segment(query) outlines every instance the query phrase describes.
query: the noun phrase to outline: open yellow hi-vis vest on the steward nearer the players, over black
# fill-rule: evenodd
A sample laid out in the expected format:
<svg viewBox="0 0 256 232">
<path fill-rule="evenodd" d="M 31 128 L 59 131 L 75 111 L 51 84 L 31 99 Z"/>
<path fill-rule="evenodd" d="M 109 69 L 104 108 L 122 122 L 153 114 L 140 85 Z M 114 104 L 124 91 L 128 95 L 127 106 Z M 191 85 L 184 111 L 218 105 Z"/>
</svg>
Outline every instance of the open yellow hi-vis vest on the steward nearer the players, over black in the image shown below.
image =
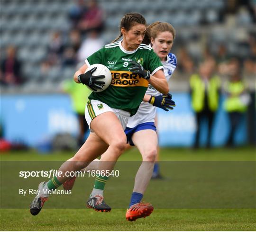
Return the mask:
<svg viewBox="0 0 256 232">
<path fill-rule="evenodd" d="M 190 88 L 192 90 L 192 108 L 195 112 L 201 112 L 204 107 L 205 83 L 198 74 L 193 74 L 190 78 Z M 208 106 L 211 111 L 216 111 L 219 107 L 219 76 L 214 75 L 209 79 Z"/>
</svg>

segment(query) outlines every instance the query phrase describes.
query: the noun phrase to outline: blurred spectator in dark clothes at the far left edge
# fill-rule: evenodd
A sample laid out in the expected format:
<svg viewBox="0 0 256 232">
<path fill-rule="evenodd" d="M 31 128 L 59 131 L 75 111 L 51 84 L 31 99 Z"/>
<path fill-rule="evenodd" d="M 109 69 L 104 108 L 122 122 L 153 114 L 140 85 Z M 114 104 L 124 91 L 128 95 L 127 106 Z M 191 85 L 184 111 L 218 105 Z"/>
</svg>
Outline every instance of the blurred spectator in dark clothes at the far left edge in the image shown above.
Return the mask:
<svg viewBox="0 0 256 232">
<path fill-rule="evenodd" d="M 8 46 L 6 57 L 1 62 L 0 84 L 19 85 L 23 82 L 21 66 L 22 63 L 17 58 L 16 48 Z"/>
</svg>

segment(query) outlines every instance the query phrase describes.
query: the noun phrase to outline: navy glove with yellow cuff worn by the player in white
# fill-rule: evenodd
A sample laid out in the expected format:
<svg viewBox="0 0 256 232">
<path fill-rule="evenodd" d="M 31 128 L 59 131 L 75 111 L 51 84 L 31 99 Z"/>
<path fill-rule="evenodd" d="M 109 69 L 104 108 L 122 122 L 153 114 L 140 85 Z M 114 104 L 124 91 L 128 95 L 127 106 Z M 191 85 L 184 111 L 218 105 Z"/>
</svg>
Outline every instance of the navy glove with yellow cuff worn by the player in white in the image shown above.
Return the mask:
<svg viewBox="0 0 256 232">
<path fill-rule="evenodd" d="M 154 107 L 161 108 L 165 111 L 174 109 L 176 106 L 175 102 L 172 100 L 172 95 L 169 93 L 167 95 L 151 96 L 148 102 Z"/>
</svg>

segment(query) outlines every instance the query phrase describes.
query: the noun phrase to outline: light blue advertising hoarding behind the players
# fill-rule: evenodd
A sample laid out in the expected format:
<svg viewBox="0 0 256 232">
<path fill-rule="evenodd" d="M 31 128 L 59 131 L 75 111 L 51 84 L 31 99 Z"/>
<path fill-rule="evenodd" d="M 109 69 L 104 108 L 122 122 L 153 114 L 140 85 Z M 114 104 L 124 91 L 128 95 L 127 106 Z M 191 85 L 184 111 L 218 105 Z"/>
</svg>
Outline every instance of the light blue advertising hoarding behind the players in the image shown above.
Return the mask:
<svg viewBox="0 0 256 232">
<path fill-rule="evenodd" d="M 195 117 L 188 93 L 173 94 L 176 107 L 165 112 L 158 109 L 158 135 L 160 146 L 191 146 L 196 129 Z M 225 144 L 229 120 L 222 110 L 223 97 L 216 115 L 212 145 Z M 10 142 L 23 142 L 31 147 L 51 141 L 56 134 L 78 134 L 78 121 L 67 95 L 2 95 L 1 126 L 3 136 Z M 206 142 L 206 125 L 202 128 L 201 145 Z M 244 119 L 235 136 L 236 144 L 247 142 L 247 125 Z"/>
</svg>

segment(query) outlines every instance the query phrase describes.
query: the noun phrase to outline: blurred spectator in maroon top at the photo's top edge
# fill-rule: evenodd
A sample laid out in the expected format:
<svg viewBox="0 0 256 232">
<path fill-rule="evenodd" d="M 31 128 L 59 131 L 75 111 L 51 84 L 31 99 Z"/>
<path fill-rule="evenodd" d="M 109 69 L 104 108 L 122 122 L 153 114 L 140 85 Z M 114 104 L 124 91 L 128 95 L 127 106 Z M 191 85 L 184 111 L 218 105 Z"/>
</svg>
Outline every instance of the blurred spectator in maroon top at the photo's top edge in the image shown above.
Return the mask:
<svg viewBox="0 0 256 232">
<path fill-rule="evenodd" d="M 85 34 L 91 30 L 96 30 L 98 33 L 104 29 L 104 13 L 98 6 L 97 0 L 85 1 L 87 10 L 82 13 L 78 21 L 77 28 Z"/>
</svg>

